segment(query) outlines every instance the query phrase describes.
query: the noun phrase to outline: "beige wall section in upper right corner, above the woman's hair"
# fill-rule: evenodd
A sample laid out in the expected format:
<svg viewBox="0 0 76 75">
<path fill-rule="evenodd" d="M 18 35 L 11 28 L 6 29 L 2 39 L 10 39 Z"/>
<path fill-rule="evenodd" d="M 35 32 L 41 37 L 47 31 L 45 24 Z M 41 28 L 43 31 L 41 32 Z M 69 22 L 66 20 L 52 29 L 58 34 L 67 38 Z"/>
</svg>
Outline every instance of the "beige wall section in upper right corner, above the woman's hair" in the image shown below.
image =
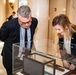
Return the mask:
<svg viewBox="0 0 76 75">
<path fill-rule="evenodd" d="M 76 0 L 67 0 L 66 14 L 73 24 L 76 24 Z"/>
</svg>

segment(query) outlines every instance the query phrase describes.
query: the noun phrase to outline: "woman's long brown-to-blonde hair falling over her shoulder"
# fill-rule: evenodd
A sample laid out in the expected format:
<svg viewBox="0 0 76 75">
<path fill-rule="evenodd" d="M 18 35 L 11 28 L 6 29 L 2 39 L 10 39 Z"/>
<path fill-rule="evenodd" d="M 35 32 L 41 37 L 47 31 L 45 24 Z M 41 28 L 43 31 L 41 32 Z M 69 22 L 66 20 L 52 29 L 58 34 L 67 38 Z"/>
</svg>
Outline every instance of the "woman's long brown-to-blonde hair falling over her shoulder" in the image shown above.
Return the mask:
<svg viewBox="0 0 76 75">
<path fill-rule="evenodd" d="M 73 33 L 76 32 L 76 25 L 72 24 L 69 20 L 69 18 L 64 15 L 60 14 L 56 16 L 52 21 L 52 26 L 61 25 L 63 29 L 65 30 L 65 35 L 67 38 L 71 37 Z M 62 37 L 59 35 L 59 37 Z"/>
</svg>

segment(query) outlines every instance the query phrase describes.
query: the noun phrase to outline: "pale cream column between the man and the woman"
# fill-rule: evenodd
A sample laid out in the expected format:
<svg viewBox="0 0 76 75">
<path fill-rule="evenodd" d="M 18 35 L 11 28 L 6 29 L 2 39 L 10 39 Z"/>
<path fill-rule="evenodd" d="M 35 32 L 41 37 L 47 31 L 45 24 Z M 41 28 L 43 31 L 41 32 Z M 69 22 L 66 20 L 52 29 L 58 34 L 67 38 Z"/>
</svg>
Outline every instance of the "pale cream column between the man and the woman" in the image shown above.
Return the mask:
<svg viewBox="0 0 76 75">
<path fill-rule="evenodd" d="M 34 36 L 37 50 L 47 52 L 49 0 L 29 0 L 32 16 L 38 19 Z"/>
</svg>

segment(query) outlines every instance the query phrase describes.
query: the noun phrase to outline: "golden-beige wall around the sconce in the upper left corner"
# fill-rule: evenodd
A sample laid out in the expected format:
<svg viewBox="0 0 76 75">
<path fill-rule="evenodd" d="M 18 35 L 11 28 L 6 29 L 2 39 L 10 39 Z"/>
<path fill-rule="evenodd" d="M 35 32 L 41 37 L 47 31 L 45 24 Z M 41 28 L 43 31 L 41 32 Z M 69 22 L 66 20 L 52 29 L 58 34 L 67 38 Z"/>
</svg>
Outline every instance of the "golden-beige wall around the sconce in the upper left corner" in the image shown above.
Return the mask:
<svg viewBox="0 0 76 75">
<path fill-rule="evenodd" d="M 3 22 L 7 21 L 7 18 L 11 15 L 12 11 L 17 12 L 18 9 L 18 0 L 15 0 L 14 9 L 12 10 L 9 5 L 9 0 L 0 0 L 0 27 Z M 17 15 L 16 15 L 17 17 Z"/>
</svg>

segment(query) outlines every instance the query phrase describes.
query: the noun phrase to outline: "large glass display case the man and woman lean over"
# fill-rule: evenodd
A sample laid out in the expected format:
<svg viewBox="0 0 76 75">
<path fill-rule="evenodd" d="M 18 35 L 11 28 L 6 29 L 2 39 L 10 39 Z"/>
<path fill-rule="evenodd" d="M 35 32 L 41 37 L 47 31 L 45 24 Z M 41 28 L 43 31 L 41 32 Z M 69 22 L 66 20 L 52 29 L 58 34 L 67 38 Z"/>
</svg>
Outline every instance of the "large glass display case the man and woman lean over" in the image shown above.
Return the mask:
<svg viewBox="0 0 76 75">
<path fill-rule="evenodd" d="M 69 63 L 76 64 L 76 58 L 71 60 L 57 56 L 58 43 L 51 40 L 36 40 L 26 44 L 27 47 L 20 43 L 13 44 L 13 75 L 76 75 L 75 71 L 70 73 L 71 70 L 65 68 L 62 63 L 63 60 L 67 60 Z"/>
</svg>

